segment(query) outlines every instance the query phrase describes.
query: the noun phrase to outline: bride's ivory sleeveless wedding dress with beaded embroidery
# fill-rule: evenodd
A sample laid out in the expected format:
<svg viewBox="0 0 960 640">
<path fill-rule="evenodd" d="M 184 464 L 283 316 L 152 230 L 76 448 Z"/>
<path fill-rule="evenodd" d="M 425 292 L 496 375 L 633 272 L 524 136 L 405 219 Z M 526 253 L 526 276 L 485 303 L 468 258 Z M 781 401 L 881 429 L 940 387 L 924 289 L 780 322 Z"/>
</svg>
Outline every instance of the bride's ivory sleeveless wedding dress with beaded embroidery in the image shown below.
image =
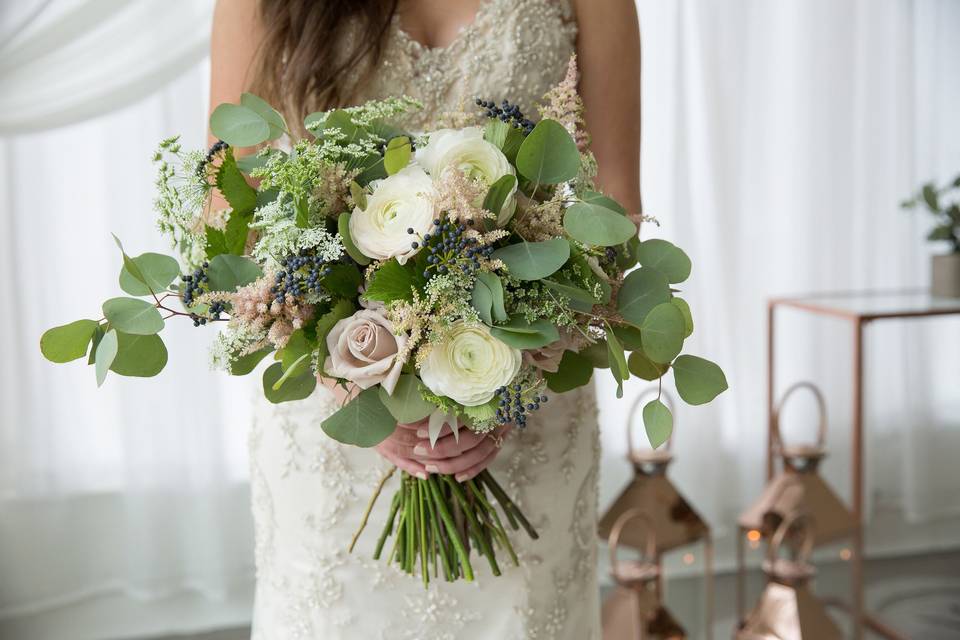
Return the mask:
<svg viewBox="0 0 960 640">
<path fill-rule="evenodd" d="M 395 19 L 384 62 L 361 99 L 424 103 L 414 128 L 463 98 L 508 99 L 535 115 L 561 80 L 576 25 L 561 0 L 482 0 L 449 46 L 427 48 Z M 318 387 L 289 404 L 259 401 L 250 432 L 257 589 L 253 640 L 599 640 L 596 584 L 596 404 L 592 386 L 550 396 L 514 429 L 491 466 L 540 533 L 513 532 L 520 567 L 494 577 L 474 554 L 475 582 L 428 589 L 374 561 L 396 477 L 352 554 L 347 545 L 389 464 L 320 428 L 335 401 Z"/>
</svg>

